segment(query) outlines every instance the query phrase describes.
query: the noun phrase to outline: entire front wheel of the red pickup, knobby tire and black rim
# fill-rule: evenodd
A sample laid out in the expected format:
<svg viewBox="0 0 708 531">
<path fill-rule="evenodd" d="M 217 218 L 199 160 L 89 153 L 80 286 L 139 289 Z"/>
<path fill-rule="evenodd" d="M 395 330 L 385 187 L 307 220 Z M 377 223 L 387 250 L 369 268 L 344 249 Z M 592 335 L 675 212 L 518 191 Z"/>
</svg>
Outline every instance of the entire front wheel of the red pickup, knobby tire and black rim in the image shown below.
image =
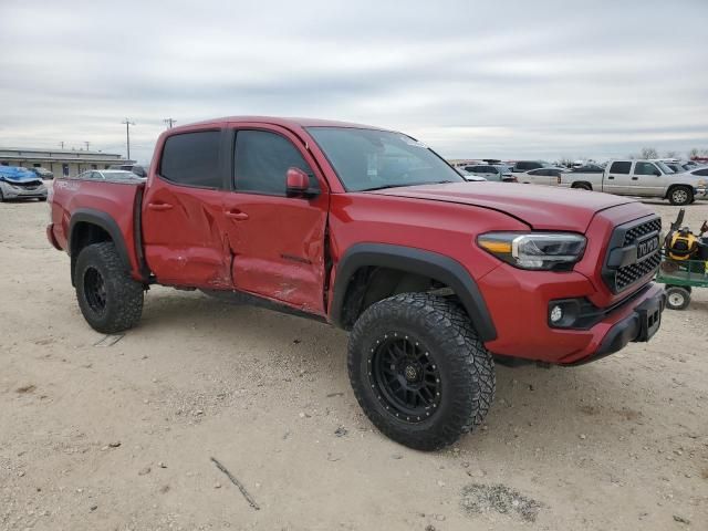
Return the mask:
<svg viewBox="0 0 708 531">
<path fill-rule="evenodd" d="M 469 317 L 427 293 L 394 295 L 360 316 L 348 373 L 371 421 L 417 450 L 437 450 L 469 433 L 494 396 L 494 364 Z"/>
</svg>

